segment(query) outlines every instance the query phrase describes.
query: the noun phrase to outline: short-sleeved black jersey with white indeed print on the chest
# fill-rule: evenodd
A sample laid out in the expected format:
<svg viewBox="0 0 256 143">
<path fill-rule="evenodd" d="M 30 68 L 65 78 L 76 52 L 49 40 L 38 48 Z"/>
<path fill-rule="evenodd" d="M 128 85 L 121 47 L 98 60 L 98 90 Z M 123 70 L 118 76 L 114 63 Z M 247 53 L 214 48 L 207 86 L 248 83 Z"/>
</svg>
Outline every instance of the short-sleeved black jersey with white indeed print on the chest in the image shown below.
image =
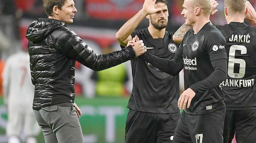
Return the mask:
<svg viewBox="0 0 256 143">
<path fill-rule="evenodd" d="M 185 89 L 191 88 L 196 93 L 190 107 L 186 108 L 186 113 L 205 114 L 225 107 L 219 86 L 197 90 L 201 86 L 200 82 L 214 71 L 212 62 L 227 59 L 225 47 L 225 38 L 215 26 L 210 25 L 210 22 L 197 34 L 191 29 L 184 36 L 176 54 L 183 56 Z"/>
</svg>

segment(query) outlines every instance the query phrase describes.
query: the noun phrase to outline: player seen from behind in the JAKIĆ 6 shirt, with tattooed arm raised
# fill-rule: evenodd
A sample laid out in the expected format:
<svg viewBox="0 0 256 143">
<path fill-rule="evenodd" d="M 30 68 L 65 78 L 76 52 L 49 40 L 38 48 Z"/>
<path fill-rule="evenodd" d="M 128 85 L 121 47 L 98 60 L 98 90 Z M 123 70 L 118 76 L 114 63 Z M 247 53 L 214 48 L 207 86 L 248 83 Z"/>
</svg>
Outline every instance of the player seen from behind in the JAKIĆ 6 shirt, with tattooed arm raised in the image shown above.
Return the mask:
<svg viewBox="0 0 256 143">
<path fill-rule="evenodd" d="M 256 23 L 256 12 L 249 1 L 225 0 L 227 25 L 215 25 L 227 40 L 228 78 L 222 88 L 226 104 L 224 143 L 231 143 L 234 135 L 239 143 L 253 143 L 256 140 L 256 86 L 255 86 L 255 27 L 246 25 L 245 18 Z M 246 8 L 247 6 L 247 8 Z M 176 32 L 174 40 L 180 42 L 186 33 L 183 25 Z"/>
</svg>

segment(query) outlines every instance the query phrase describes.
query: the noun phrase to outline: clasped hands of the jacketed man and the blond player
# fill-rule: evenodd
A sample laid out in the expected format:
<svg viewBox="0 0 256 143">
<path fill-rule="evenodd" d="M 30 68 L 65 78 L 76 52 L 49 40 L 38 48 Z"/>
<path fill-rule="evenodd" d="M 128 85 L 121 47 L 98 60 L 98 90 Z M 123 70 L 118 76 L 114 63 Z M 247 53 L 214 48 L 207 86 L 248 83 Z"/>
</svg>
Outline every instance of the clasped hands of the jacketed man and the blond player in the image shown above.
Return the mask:
<svg viewBox="0 0 256 143">
<path fill-rule="evenodd" d="M 139 57 L 140 55 L 147 52 L 147 49 L 145 49 L 143 41 L 140 40 L 137 35 L 131 41 L 128 41 L 127 46 L 133 47 L 136 57 Z"/>
</svg>

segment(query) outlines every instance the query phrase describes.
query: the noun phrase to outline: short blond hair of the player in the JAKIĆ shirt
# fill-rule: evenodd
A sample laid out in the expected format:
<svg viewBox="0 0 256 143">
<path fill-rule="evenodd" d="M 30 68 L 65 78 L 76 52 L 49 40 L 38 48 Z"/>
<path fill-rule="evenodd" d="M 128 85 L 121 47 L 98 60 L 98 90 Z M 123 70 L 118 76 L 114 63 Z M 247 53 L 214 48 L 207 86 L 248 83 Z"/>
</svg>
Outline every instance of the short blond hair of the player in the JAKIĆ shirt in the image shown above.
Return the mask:
<svg viewBox="0 0 256 143">
<path fill-rule="evenodd" d="M 243 13 L 246 11 L 246 0 L 225 0 L 225 7 L 229 7 L 231 11 Z"/>
</svg>

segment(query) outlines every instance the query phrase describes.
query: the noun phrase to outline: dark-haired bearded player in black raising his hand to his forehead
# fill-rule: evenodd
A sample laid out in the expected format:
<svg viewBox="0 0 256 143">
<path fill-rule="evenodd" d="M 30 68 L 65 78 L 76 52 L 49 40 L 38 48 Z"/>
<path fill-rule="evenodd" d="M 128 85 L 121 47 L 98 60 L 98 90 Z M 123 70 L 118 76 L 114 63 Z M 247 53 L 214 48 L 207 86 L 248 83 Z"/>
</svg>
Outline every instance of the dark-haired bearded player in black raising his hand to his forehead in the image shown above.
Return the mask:
<svg viewBox="0 0 256 143">
<path fill-rule="evenodd" d="M 166 0 L 145 0 L 143 8 L 116 33 L 121 46 L 132 37 L 142 39 L 147 52 L 172 59 L 178 44 L 167 32 L 168 8 Z M 149 26 L 135 30 L 144 18 Z M 136 36 L 137 35 L 137 36 Z M 141 58 L 131 60 L 133 89 L 128 103 L 125 143 L 169 143 L 179 118 L 178 75 L 172 76 L 155 68 Z"/>
</svg>

